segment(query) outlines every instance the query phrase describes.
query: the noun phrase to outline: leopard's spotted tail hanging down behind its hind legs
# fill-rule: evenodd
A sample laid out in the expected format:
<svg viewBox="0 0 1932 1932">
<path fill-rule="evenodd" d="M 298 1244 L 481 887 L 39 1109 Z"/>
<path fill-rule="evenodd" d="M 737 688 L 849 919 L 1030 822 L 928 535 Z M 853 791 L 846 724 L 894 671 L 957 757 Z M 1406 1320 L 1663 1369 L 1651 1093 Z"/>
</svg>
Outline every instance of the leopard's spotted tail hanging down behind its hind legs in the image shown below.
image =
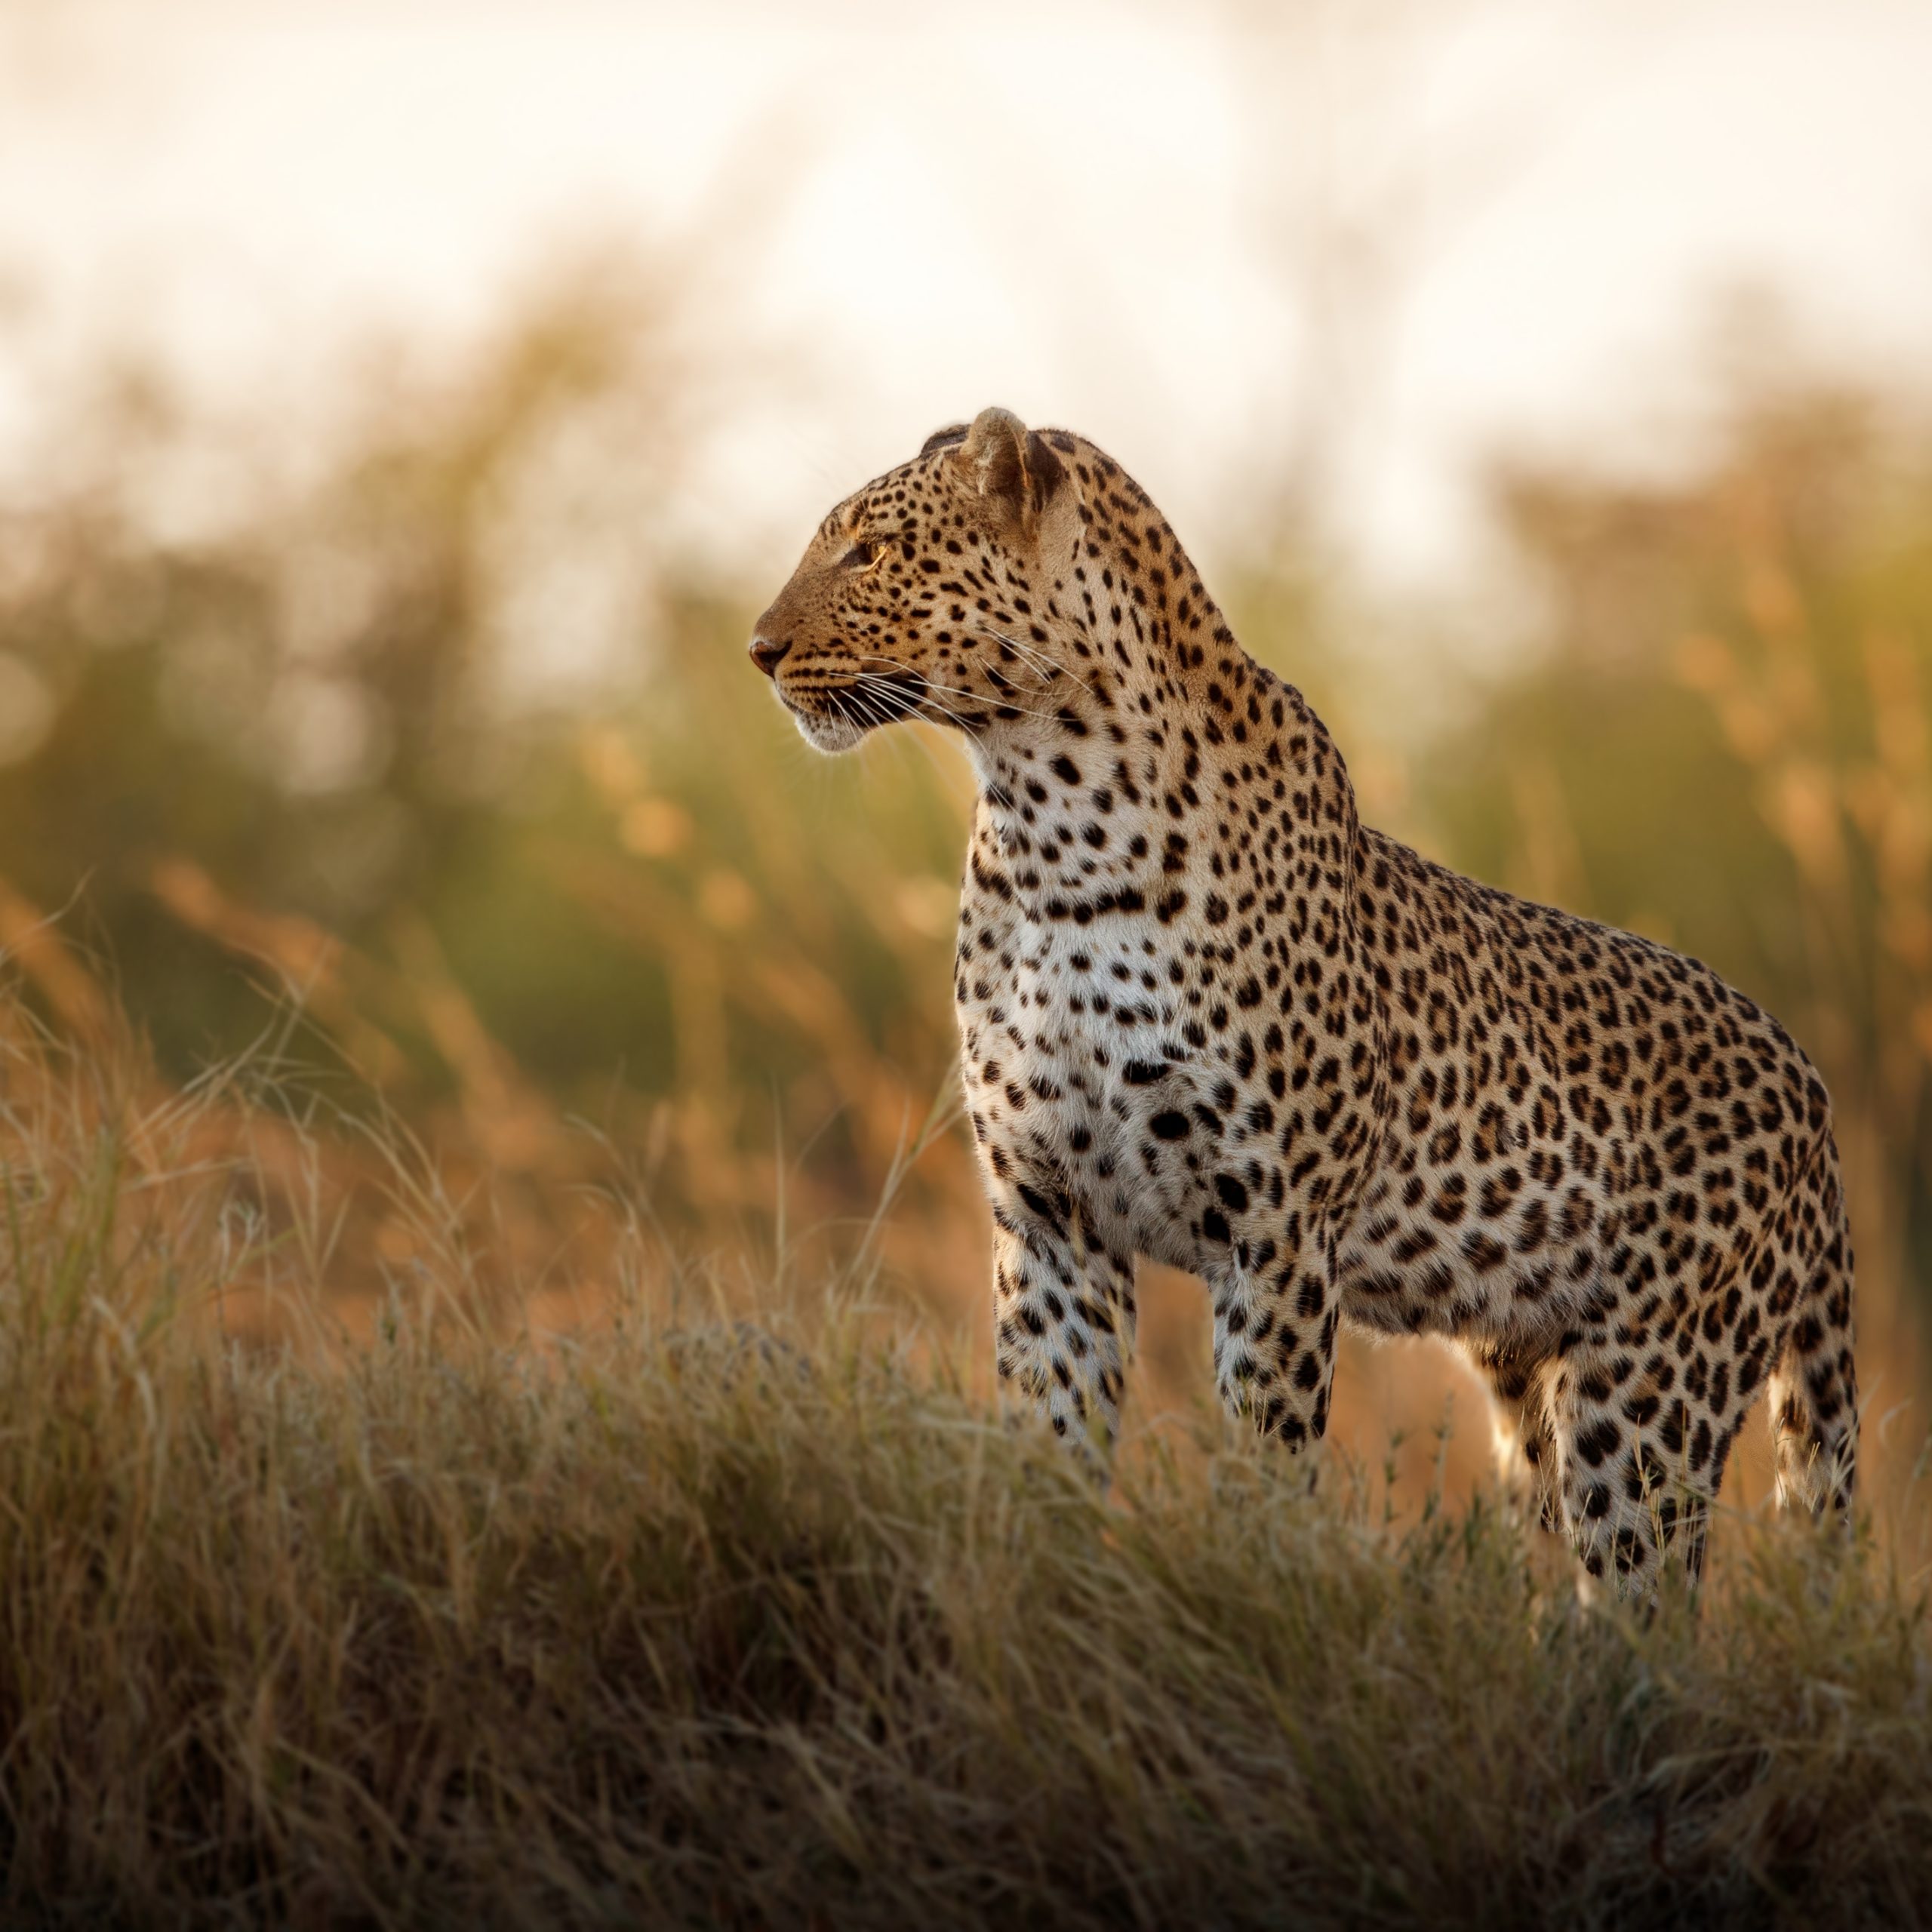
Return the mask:
<svg viewBox="0 0 1932 1932">
<path fill-rule="evenodd" d="M 1851 1358 L 1851 1227 L 1830 1126 L 1799 1182 L 1818 1213 L 1814 1258 L 1772 1370 L 1777 1501 L 1851 1520 L 1859 1480 L 1859 1378 Z M 1797 1204 L 1803 1227 L 1803 1202 Z"/>
</svg>

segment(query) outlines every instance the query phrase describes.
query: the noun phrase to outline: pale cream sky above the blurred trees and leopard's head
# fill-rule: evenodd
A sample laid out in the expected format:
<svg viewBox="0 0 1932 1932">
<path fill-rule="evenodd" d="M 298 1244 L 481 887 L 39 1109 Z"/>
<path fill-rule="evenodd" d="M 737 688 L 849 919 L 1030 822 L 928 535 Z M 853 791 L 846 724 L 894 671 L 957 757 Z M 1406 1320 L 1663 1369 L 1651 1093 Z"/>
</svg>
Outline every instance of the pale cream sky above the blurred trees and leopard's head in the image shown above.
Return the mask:
<svg viewBox="0 0 1932 1932">
<path fill-rule="evenodd" d="M 1335 527 L 1428 585 L 1486 452 L 1685 448 L 1725 286 L 1926 383 L 1928 100 L 1891 0 L 0 0 L 0 454 L 106 350 L 294 421 L 371 334 L 460 346 L 560 251 L 730 211 L 705 336 L 784 373 L 694 541 L 788 556 L 1001 402 L 1208 558 L 1325 435 Z"/>
</svg>

